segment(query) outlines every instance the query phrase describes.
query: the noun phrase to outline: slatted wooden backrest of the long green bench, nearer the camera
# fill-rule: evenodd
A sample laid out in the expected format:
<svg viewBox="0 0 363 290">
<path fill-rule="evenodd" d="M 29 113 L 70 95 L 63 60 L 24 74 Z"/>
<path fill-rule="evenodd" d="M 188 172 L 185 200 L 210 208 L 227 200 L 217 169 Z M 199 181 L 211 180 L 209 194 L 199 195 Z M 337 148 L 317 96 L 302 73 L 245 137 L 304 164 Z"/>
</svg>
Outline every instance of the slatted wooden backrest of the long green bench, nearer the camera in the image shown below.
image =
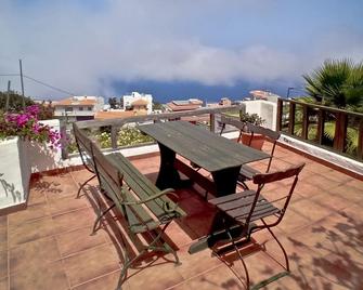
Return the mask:
<svg viewBox="0 0 363 290">
<path fill-rule="evenodd" d="M 91 150 L 100 186 L 111 195 L 114 201 L 115 198 L 121 200 L 122 173 L 105 157 L 96 144 L 91 144 Z"/>
</svg>

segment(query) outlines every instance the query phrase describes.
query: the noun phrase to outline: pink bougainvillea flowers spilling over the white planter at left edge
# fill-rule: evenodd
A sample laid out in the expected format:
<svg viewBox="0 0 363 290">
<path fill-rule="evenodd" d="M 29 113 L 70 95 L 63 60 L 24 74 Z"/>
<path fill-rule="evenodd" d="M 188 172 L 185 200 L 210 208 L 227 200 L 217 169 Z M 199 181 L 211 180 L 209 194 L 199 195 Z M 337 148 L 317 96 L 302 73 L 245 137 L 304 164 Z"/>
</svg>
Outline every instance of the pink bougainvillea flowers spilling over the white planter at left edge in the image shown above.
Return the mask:
<svg viewBox="0 0 363 290">
<path fill-rule="evenodd" d="M 47 142 L 51 148 L 61 146 L 61 134 L 39 121 L 38 105 L 28 106 L 18 114 L 0 111 L 0 140 L 20 136 L 23 140 Z"/>
</svg>

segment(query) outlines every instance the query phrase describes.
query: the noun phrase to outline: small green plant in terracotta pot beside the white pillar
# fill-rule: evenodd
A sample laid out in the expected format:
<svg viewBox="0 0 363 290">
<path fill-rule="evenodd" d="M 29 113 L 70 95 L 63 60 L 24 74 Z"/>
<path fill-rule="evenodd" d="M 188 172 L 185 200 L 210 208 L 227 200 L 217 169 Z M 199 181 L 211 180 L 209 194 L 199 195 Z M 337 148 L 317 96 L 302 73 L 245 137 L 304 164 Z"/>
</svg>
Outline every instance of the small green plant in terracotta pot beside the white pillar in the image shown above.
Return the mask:
<svg viewBox="0 0 363 290">
<path fill-rule="evenodd" d="M 257 114 L 248 114 L 248 113 L 241 113 L 239 114 L 239 120 L 242 122 L 249 122 L 255 126 L 261 126 L 264 123 L 264 120 L 258 116 Z M 241 140 L 242 143 L 245 145 L 249 145 L 250 147 L 254 147 L 255 149 L 262 149 L 264 136 L 261 134 L 254 133 L 254 136 L 250 132 L 246 129 L 245 131 L 241 132 Z M 252 140 L 251 140 L 252 139 Z"/>
</svg>

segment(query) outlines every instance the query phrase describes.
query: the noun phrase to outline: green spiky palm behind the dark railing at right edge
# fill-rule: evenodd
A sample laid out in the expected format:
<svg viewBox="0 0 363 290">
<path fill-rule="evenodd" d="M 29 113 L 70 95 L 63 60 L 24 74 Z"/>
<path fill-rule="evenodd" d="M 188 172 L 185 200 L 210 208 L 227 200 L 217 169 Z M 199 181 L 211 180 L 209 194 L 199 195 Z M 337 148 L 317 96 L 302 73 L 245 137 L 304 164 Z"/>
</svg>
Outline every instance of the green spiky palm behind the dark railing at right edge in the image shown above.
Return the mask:
<svg viewBox="0 0 363 290">
<path fill-rule="evenodd" d="M 363 62 L 328 60 L 302 76 L 309 95 L 325 105 L 354 108 L 363 105 Z"/>
</svg>

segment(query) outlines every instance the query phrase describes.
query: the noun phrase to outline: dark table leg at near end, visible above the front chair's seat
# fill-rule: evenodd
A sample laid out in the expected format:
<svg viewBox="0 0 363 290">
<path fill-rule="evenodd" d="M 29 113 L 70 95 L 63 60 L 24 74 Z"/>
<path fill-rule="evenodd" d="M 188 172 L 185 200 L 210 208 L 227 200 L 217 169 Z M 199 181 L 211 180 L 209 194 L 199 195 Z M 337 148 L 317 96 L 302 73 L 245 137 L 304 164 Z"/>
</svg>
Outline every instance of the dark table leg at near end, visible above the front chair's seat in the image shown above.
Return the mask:
<svg viewBox="0 0 363 290">
<path fill-rule="evenodd" d="M 228 168 L 212 172 L 217 197 L 232 195 L 236 193 L 239 167 Z"/>
</svg>

